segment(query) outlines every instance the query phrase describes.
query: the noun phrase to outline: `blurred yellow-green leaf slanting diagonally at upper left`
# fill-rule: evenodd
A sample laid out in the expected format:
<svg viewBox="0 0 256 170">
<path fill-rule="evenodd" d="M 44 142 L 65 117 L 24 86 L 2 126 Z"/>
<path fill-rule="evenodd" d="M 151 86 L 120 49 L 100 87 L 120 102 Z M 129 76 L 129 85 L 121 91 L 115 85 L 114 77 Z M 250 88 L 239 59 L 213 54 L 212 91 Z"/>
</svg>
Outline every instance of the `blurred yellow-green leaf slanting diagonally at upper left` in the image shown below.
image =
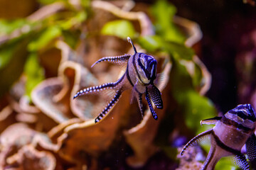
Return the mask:
<svg viewBox="0 0 256 170">
<path fill-rule="evenodd" d="M 50 26 L 49 28 L 46 28 L 46 30 L 44 30 L 43 33 L 41 33 L 39 38 L 37 38 L 36 40 L 33 40 L 28 44 L 28 50 L 29 51 L 40 50 L 43 47 L 46 47 L 46 45 L 48 45 L 48 43 L 51 40 L 59 37 L 60 35 L 61 35 L 61 30 L 58 26 Z"/>
</svg>

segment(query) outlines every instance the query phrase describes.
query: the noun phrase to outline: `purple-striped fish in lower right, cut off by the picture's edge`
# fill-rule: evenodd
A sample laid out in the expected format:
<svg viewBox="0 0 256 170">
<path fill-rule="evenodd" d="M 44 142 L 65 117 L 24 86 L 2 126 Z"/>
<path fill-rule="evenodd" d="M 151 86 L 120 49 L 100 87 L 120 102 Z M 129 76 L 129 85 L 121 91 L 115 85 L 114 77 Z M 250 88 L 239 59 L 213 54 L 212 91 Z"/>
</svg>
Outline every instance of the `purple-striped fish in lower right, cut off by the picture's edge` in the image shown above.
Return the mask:
<svg viewBox="0 0 256 170">
<path fill-rule="evenodd" d="M 241 169 L 249 170 L 250 164 L 241 153 L 245 145 L 250 162 L 256 159 L 256 113 L 250 104 L 241 104 L 223 116 L 201 120 L 203 124 L 215 126 L 193 137 L 181 150 L 181 156 L 188 147 L 196 145 L 205 137 L 210 137 L 210 151 L 201 170 L 211 170 L 222 157 L 235 156 L 235 162 Z"/>
</svg>

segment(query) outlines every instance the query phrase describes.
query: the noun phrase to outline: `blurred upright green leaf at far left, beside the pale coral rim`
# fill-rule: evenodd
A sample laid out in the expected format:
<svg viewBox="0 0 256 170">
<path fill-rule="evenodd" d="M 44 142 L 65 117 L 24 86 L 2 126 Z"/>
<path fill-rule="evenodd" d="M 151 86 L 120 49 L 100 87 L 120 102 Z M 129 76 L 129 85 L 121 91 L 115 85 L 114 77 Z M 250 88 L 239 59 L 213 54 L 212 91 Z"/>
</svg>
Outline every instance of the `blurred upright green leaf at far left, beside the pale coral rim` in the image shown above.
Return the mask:
<svg viewBox="0 0 256 170">
<path fill-rule="evenodd" d="M 26 95 L 30 98 L 33 88 L 45 79 L 43 67 L 39 64 L 38 55 L 31 53 L 24 67 L 26 74 Z"/>
</svg>

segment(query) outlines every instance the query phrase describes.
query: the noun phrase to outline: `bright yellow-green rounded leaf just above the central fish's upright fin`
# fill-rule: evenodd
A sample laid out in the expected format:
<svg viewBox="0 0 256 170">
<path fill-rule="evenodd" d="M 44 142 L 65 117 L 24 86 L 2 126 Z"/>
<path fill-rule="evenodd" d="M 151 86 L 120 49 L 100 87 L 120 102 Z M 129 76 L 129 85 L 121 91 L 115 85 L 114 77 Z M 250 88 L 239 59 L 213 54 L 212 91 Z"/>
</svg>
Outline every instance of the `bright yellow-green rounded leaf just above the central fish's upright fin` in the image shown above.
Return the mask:
<svg viewBox="0 0 256 170">
<path fill-rule="evenodd" d="M 103 26 L 102 35 L 114 35 L 119 38 L 134 38 L 136 32 L 132 23 L 126 20 L 110 21 Z"/>
</svg>

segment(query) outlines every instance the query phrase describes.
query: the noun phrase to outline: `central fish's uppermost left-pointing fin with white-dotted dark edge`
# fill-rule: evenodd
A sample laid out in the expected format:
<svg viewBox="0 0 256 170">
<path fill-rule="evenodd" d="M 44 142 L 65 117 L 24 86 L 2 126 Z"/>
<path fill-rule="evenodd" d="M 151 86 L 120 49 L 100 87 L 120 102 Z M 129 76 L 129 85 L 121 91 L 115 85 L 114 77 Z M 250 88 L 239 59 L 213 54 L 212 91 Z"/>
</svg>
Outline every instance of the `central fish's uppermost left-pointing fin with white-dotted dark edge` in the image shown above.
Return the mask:
<svg viewBox="0 0 256 170">
<path fill-rule="evenodd" d="M 112 62 L 112 63 L 115 63 L 115 64 L 124 65 L 124 64 L 127 64 L 127 61 L 129 60 L 129 57 L 131 57 L 131 55 L 119 55 L 119 56 L 114 56 L 114 57 L 103 57 L 100 60 L 97 60 L 97 62 L 95 62 L 94 64 L 92 64 L 92 67 L 94 67 L 95 64 L 98 64 L 100 62 Z"/>
</svg>

